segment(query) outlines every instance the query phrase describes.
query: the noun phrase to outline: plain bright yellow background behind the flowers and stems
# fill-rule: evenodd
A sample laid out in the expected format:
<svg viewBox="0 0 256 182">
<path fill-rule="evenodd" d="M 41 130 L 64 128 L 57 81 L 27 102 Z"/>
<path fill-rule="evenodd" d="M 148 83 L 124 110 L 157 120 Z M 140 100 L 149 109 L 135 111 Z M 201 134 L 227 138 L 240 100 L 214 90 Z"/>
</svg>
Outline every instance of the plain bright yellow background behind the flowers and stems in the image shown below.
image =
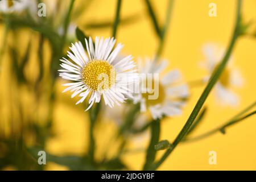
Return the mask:
<svg viewBox="0 0 256 182">
<path fill-rule="evenodd" d="M 208 5 L 217 4 L 217 17 L 208 16 Z M 152 1 L 161 23 L 167 7 L 166 0 Z M 77 6 L 77 5 L 76 5 Z M 102 19 L 113 19 L 116 1 L 95 0 L 84 13 L 78 25 L 83 21 L 97 22 Z M 246 21 L 256 20 L 256 1 L 243 1 L 243 17 Z M 204 43 L 214 42 L 227 46 L 232 35 L 236 1 L 234 0 L 176 0 L 170 29 L 167 32 L 163 58 L 170 60 L 168 68 L 179 68 L 185 80 L 197 80 L 205 76 L 199 62 L 204 59 L 201 47 Z M 138 56 L 153 56 L 158 47 L 150 18 L 146 14 L 143 1 L 124 0 L 122 17 L 138 14 L 138 20 L 118 29 L 117 40 L 125 44 L 122 53 Z M 112 30 L 89 30 L 90 36 L 111 36 Z M 209 106 L 207 118 L 196 134 L 204 133 L 221 123 L 226 122 L 238 111 L 255 101 L 256 82 L 256 39 L 245 36 L 238 40 L 233 52 L 234 65 L 240 68 L 245 84 L 236 92 L 241 98 L 238 107 L 221 107 L 214 102 L 211 94 L 206 105 Z M 58 85 L 62 81 L 57 82 Z M 204 87 L 191 89 L 191 98 L 181 117 L 166 119 L 162 122 L 161 139 L 174 140 L 189 117 Z M 49 140 L 47 151 L 53 154 L 82 154 L 87 147 L 88 122 L 81 106 L 73 107 L 70 93 L 62 94 L 62 86 L 57 89 L 57 104 L 54 113 L 56 138 Z M 65 102 L 65 103 L 64 103 Z M 79 109 L 77 109 L 79 108 Z M 105 143 L 105 136 L 113 133 L 113 123 L 104 122 L 97 126 L 97 157 Z M 159 168 L 160 170 L 256 170 L 256 118 L 251 117 L 220 133 L 199 142 L 180 144 L 171 156 Z M 209 151 L 217 152 L 217 165 L 209 165 Z M 162 154 L 160 152 L 160 154 Z M 144 154 L 129 154 L 123 157 L 132 169 L 141 169 Z M 47 169 L 65 169 L 56 164 L 48 164 Z"/>
</svg>

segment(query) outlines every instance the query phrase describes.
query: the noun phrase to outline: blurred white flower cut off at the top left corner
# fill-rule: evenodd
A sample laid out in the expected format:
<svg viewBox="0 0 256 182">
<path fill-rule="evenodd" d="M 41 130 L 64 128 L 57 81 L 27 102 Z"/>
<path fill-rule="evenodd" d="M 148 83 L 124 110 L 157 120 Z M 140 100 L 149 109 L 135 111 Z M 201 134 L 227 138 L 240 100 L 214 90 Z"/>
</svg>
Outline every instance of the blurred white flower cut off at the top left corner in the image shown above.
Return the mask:
<svg viewBox="0 0 256 182">
<path fill-rule="evenodd" d="M 21 13 L 24 10 L 35 11 L 34 0 L 1 0 L 0 13 Z"/>
</svg>

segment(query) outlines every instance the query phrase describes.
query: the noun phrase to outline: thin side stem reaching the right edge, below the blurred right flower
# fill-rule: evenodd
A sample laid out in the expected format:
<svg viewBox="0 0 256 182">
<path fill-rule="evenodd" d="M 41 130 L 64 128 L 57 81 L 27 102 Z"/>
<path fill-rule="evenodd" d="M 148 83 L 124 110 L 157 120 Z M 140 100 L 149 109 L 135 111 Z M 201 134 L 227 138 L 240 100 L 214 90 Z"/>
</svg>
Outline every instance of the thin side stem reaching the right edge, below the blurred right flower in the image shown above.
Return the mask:
<svg viewBox="0 0 256 182">
<path fill-rule="evenodd" d="M 228 122 L 226 122 L 224 125 L 220 126 L 220 127 L 217 127 L 216 129 L 213 129 L 213 130 L 210 130 L 208 131 L 207 133 L 204 133 L 204 134 L 201 134 L 197 137 L 194 137 L 194 138 L 186 138 L 185 140 L 183 140 L 183 142 L 195 142 L 197 140 L 200 140 L 200 139 L 204 139 L 206 137 L 209 137 L 210 135 L 213 135 L 213 134 L 216 134 L 218 132 L 223 132 L 225 131 L 225 128 L 226 127 L 229 127 L 231 125 L 234 125 L 236 124 L 237 122 L 240 122 L 242 121 L 243 119 L 246 119 L 247 117 L 250 117 L 251 115 L 255 114 L 255 111 L 254 112 L 251 112 L 247 115 L 245 115 L 244 117 L 242 117 L 243 114 L 245 114 L 247 111 L 249 111 L 251 108 L 253 108 L 254 106 L 256 105 L 256 101 L 253 102 L 253 104 L 251 104 L 250 106 L 246 107 L 246 109 L 242 110 L 240 113 L 238 113 L 237 115 L 235 115 L 232 119 L 229 119 Z"/>
</svg>

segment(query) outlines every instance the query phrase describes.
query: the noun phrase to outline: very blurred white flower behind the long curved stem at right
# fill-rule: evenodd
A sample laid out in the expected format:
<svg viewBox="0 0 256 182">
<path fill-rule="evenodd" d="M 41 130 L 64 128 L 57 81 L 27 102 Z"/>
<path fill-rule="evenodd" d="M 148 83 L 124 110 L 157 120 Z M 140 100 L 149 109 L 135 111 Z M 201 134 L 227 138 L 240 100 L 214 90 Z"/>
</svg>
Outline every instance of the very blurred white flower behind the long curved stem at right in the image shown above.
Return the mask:
<svg viewBox="0 0 256 182">
<path fill-rule="evenodd" d="M 210 76 L 217 69 L 218 65 L 220 65 L 220 61 L 225 55 L 225 48 L 214 43 L 207 43 L 203 46 L 203 53 L 205 57 L 203 67 L 207 69 Z M 216 100 L 221 105 L 235 106 L 239 102 L 237 94 L 232 89 L 242 86 L 243 79 L 240 71 L 233 67 L 232 62 L 233 56 L 230 56 L 228 65 L 222 72 L 214 88 Z M 209 76 L 205 80 L 208 80 Z"/>
</svg>

